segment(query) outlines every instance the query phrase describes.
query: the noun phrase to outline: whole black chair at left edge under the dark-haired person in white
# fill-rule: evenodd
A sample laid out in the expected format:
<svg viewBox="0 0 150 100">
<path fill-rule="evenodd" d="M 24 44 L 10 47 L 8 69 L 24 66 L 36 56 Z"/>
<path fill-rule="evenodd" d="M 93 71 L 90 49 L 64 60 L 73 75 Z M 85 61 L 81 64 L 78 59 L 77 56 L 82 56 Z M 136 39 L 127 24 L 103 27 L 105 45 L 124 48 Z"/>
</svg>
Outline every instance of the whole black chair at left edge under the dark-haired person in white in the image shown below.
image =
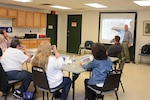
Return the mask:
<svg viewBox="0 0 150 100">
<path fill-rule="evenodd" d="M 8 80 L 1 63 L 0 63 L 0 80 L 1 80 L 0 81 L 0 91 L 5 93 L 5 94 L 3 94 L 3 96 L 5 96 L 5 100 L 7 99 L 7 95 L 9 93 L 10 89 L 12 88 L 12 92 L 14 92 L 15 84 L 18 82 L 22 82 L 22 80 Z"/>
</svg>

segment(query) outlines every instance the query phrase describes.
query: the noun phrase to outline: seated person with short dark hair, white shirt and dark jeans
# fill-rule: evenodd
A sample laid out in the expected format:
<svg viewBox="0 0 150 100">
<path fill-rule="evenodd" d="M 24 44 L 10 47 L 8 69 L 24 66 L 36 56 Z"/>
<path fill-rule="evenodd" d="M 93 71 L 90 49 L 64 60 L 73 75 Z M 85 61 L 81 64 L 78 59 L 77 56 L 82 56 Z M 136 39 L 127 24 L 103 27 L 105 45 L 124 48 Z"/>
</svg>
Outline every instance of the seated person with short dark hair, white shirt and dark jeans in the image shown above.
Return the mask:
<svg viewBox="0 0 150 100">
<path fill-rule="evenodd" d="M 3 53 L 1 64 L 8 80 L 23 80 L 21 86 L 13 94 L 17 98 L 22 98 L 22 93 L 27 91 L 32 81 L 32 73 L 22 69 L 24 62 L 30 62 L 28 50 L 21 45 L 18 39 L 14 39 L 10 47 Z"/>
</svg>

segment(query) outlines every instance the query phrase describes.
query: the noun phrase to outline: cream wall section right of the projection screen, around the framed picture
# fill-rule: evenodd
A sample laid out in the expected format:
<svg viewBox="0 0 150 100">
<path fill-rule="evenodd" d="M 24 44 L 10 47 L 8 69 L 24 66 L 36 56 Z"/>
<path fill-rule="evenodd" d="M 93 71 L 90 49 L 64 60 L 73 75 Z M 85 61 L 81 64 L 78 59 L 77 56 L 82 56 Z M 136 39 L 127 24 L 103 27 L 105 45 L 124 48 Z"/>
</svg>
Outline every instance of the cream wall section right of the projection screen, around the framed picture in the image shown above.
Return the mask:
<svg viewBox="0 0 150 100">
<path fill-rule="evenodd" d="M 138 54 L 140 53 L 140 49 L 144 44 L 150 43 L 150 36 L 143 36 L 143 22 L 150 21 L 150 11 L 149 10 L 139 10 L 137 11 L 137 34 L 136 34 L 136 49 L 135 49 L 135 61 L 139 61 Z M 142 62 L 148 63 L 150 62 L 150 58 L 142 58 Z"/>
</svg>

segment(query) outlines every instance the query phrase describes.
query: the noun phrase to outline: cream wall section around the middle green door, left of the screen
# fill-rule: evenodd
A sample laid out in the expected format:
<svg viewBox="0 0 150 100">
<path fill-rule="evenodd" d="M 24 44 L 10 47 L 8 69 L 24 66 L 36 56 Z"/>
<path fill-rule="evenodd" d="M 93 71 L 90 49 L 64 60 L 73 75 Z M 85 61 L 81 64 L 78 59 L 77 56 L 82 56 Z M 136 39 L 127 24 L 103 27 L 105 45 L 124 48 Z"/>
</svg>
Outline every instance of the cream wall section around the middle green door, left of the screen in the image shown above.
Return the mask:
<svg viewBox="0 0 150 100">
<path fill-rule="evenodd" d="M 98 41 L 98 25 L 99 12 L 59 12 L 58 13 L 58 49 L 66 51 L 67 44 L 67 16 L 68 15 L 82 15 L 82 30 L 81 42 L 85 40 Z"/>
</svg>

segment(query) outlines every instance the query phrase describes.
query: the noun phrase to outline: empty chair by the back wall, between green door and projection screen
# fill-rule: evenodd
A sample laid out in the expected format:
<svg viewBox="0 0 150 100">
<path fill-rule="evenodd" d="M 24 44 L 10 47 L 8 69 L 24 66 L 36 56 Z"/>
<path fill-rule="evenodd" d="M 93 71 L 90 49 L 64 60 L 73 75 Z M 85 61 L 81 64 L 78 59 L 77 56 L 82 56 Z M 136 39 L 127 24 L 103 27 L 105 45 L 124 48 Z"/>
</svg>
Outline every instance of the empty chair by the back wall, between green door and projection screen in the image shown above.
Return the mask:
<svg viewBox="0 0 150 100">
<path fill-rule="evenodd" d="M 93 44 L 93 41 L 87 40 L 85 43 L 81 43 L 79 46 L 78 54 L 81 54 L 81 50 L 84 49 L 84 53 L 86 50 L 91 50 L 91 46 Z"/>
</svg>

